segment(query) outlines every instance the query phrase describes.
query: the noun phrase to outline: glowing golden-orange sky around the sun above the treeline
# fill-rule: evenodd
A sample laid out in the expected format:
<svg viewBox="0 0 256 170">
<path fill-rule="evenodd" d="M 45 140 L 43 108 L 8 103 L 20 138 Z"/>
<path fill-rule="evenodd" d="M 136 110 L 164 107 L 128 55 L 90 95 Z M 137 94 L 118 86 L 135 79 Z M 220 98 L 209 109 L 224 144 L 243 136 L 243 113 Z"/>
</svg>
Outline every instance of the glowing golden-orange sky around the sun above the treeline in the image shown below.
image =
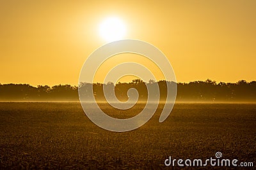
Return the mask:
<svg viewBox="0 0 256 170">
<path fill-rule="evenodd" d="M 106 43 L 99 24 L 111 16 L 125 23 L 125 38 L 159 48 L 179 82 L 256 80 L 254 0 L 3 0 L 0 9 L 0 83 L 77 85 L 88 55 Z"/>
</svg>

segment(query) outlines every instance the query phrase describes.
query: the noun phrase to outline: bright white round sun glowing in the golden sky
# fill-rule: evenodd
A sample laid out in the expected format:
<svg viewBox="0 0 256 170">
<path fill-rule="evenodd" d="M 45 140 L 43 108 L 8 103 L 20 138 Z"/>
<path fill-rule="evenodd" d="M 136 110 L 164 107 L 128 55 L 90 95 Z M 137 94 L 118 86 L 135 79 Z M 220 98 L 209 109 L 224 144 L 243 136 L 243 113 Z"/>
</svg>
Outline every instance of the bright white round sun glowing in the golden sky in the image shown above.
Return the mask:
<svg viewBox="0 0 256 170">
<path fill-rule="evenodd" d="M 123 39 L 126 33 L 124 22 L 117 17 L 109 17 L 99 25 L 99 34 L 107 42 Z"/>
</svg>

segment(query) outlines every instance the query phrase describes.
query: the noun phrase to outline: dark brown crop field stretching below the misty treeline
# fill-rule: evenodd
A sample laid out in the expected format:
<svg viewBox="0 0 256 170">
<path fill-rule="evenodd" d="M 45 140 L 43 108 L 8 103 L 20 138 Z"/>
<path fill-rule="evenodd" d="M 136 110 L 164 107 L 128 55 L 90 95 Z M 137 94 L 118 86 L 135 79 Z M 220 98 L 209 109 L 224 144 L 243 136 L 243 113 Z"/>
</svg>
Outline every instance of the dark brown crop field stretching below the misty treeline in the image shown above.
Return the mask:
<svg viewBox="0 0 256 170">
<path fill-rule="evenodd" d="M 143 108 L 113 117 L 131 117 Z M 256 164 L 256 104 L 175 104 L 159 123 L 139 129 L 100 129 L 80 103 L 0 103 L 0 169 L 165 169 L 164 160 L 215 157 Z M 131 115 L 129 115 L 131 113 Z M 133 116 L 132 115 L 132 116 Z M 178 168 L 178 166 L 175 166 Z"/>
</svg>

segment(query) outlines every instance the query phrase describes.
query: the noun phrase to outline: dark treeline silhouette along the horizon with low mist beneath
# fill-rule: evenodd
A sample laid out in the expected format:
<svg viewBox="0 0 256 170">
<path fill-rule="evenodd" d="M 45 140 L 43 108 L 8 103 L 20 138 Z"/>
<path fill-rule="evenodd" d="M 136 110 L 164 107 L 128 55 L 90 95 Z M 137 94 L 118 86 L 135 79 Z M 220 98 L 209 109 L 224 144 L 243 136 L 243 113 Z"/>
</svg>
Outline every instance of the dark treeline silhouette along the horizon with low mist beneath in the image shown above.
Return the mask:
<svg viewBox="0 0 256 170">
<path fill-rule="evenodd" d="M 130 83 L 117 83 L 114 85 L 93 83 L 93 93 L 97 101 L 106 101 L 103 94 L 103 86 L 107 88 L 115 86 L 115 94 L 120 101 L 128 99 L 127 90 L 135 88 L 139 92 L 139 100 L 147 100 L 147 86 L 158 83 L 160 99 L 166 99 L 166 83 L 173 81 L 150 80 L 144 83 L 140 79 Z M 90 90 L 92 84 L 81 83 L 81 90 Z M 71 85 L 38 85 L 33 87 L 28 84 L 0 84 L 0 101 L 79 101 L 78 87 Z M 237 83 L 216 83 L 206 81 L 193 81 L 189 83 L 177 83 L 177 101 L 180 102 L 256 102 L 256 81 L 246 82 L 240 80 Z"/>
</svg>

